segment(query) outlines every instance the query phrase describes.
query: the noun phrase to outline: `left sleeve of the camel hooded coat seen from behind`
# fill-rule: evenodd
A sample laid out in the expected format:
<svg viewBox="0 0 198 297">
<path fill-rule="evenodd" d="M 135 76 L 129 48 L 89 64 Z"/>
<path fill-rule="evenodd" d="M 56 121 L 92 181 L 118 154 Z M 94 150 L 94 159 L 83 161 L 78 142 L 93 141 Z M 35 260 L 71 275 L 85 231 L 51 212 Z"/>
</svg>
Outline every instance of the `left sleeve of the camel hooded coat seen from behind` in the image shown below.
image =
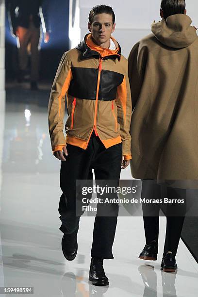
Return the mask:
<svg viewBox="0 0 198 297">
<path fill-rule="evenodd" d="M 145 68 L 147 64 L 148 50 L 146 47 L 136 43 L 132 48 L 129 62 L 129 82 L 132 96 L 132 110 L 134 109 L 139 98 L 142 83 L 144 82 Z"/>
</svg>

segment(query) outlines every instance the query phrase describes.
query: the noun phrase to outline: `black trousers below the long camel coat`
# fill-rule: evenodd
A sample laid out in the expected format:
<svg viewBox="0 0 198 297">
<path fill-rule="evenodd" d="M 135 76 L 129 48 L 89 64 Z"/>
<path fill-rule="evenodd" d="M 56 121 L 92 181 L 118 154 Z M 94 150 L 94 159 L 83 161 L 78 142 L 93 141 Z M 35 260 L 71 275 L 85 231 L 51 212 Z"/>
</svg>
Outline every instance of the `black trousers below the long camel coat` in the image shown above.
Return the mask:
<svg viewBox="0 0 198 297">
<path fill-rule="evenodd" d="M 166 194 L 166 198 L 168 199 L 184 200 L 183 204 L 168 204 L 165 209 L 166 234 L 164 255 L 167 251 L 172 251 L 172 254 L 176 256 L 186 212 L 186 189 L 165 187 L 164 185 L 157 184 L 155 180 L 142 181 L 142 198 L 160 199 L 165 197 L 164 194 Z M 164 211 L 164 206 L 164 204 L 160 205 L 159 203 L 142 203 L 147 244 L 150 244 L 153 240 L 158 243 L 159 211 L 160 208 Z"/>
</svg>

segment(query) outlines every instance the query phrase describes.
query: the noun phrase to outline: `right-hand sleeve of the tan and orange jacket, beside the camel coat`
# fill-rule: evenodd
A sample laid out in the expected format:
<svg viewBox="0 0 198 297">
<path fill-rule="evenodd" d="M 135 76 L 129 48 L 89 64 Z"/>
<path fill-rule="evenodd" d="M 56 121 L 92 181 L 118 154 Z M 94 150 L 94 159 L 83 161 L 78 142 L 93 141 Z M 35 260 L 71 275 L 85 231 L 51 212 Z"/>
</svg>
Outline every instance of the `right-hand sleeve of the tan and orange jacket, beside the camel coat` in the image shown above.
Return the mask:
<svg viewBox="0 0 198 297">
<path fill-rule="evenodd" d="M 122 139 L 122 154 L 125 160 L 131 160 L 131 135 L 129 133 L 132 117 L 132 100 L 128 78 L 128 62 L 126 61 L 125 75 L 117 87 L 115 103 L 117 105 L 117 121 L 120 125 Z"/>
</svg>

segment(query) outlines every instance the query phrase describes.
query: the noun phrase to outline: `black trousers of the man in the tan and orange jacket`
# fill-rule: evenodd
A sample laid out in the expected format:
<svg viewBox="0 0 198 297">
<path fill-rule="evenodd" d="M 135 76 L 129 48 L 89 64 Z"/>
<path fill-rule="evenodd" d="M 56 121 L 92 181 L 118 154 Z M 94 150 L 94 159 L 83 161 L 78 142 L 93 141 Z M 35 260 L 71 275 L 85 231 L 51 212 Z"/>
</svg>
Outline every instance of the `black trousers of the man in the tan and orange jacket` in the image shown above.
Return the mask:
<svg viewBox="0 0 198 297">
<path fill-rule="evenodd" d="M 115 180 L 119 185 L 122 144 L 105 148 L 94 132 L 90 138 L 87 149 L 67 144 L 68 157 L 61 161 L 60 186 L 63 191 L 59 202 L 59 214 L 62 225 L 60 230 L 70 234 L 79 226 L 80 216 L 76 215 L 76 180 L 92 180 L 92 168 L 95 179 Z M 117 198 L 117 195 L 116 195 Z M 108 206 L 109 207 L 109 206 Z M 112 205 L 112 216 L 95 217 L 92 257 L 112 259 L 112 246 L 117 224 L 118 204 Z"/>
</svg>

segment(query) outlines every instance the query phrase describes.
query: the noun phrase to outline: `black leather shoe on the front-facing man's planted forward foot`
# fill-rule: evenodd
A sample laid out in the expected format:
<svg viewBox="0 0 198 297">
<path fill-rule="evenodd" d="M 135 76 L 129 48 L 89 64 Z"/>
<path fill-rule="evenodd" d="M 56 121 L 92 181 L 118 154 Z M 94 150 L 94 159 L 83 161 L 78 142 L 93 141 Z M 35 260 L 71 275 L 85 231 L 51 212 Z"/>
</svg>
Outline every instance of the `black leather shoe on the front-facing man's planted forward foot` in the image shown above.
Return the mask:
<svg viewBox="0 0 198 297">
<path fill-rule="evenodd" d="M 89 281 L 95 286 L 107 286 L 109 280 L 105 275 L 102 258 L 91 258 Z"/>
</svg>

